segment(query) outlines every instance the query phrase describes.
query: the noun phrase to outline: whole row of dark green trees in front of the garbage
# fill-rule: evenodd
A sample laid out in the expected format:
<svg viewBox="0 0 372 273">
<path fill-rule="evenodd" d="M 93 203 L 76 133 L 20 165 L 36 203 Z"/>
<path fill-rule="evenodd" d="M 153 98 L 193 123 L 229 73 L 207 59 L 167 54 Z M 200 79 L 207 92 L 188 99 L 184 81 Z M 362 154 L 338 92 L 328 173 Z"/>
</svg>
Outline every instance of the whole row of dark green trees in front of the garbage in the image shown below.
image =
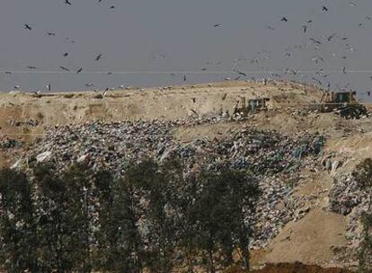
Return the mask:
<svg viewBox="0 0 372 273">
<path fill-rule="evenodd" d="M 0 262 L 8 272 L 208 272 L 240 262 L 260 191 L 250 173 L 185 175 L 138 163 L 120 179 L 77 164 L 0 172 Z M 236 259 L 238 257 L 239 259 Z"/>
</svg>

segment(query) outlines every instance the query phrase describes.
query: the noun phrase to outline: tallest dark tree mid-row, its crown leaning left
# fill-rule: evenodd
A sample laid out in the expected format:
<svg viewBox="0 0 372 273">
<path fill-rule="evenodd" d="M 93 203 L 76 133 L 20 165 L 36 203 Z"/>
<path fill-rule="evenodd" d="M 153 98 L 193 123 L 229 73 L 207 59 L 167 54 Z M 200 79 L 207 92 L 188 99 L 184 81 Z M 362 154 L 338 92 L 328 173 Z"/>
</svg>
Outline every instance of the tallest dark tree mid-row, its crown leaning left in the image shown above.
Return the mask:
<svg viewBox="0 0 372 273">
<path fill-rule="evenodd" d="M 173 207 L 169 202 L 170 177 L 153 160 L 145 160 L 128 170 L 125 179 L 143 198 L 146 243 L 146 266 L 153 272 L 170 272 L 173 268 L 175 225 Z"/>
</svg>

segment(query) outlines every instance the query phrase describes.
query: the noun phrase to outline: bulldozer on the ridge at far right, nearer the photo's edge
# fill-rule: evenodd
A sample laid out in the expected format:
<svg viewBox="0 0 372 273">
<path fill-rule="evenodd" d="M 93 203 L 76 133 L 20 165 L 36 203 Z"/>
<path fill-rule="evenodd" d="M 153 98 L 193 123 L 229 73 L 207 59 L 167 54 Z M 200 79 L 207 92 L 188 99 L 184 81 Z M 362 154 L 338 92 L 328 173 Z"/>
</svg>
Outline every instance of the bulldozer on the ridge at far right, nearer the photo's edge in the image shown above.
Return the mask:
<svg viewBox="0 0 372 273">
<path fill-rule="evenodd" d="M 359 119 L 368 114 L 367 108 L 357 101 L 357 92 L 324 92 L 317 110 L 335 112 L 346 119 Z"/>
</svg>

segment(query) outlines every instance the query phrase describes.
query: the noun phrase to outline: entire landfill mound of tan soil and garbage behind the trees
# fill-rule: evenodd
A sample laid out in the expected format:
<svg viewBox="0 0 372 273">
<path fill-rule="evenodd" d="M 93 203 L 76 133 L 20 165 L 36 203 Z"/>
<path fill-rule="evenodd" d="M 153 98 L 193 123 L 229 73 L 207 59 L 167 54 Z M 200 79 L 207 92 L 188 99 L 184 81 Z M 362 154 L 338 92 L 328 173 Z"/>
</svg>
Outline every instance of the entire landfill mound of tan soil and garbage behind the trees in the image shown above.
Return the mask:
<svg viewBox="0 0 372 273">
<path fill-rule="evenodd" d="M 120 174 L 145 157 L 178 156 L 185 172 L 227 163 L 260 181 L 253 269 L 351 272 L 370 198 L 354 173 L 372 152 L 372 117 L 354 96 L 287 81 L 4 92 L 0 166 L 84 161 Z"/>
</svg>

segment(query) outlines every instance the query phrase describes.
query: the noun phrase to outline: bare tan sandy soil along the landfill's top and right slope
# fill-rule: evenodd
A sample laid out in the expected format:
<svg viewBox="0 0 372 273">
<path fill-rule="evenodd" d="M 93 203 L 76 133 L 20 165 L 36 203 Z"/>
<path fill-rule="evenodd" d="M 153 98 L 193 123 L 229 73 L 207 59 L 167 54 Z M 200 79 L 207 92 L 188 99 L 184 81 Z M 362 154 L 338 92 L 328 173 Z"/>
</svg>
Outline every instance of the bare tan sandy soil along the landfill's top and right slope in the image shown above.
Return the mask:
<svg viewBox="0 0 372 273">
<path fill-rule="evenodd" d="M 327 137 L 326 151 L 335 152 L 342 159 L 337 172 L 351 170 L 356 163 L 370 156 L 372 151 L 372 119 L 341 119 L 334 113 L 306 113 L 311 102 L 320 101 L 322 92 L 313 86 L 291 83 L 204 84 L 123 90 L 108 92 L 102 99 L 97 92 L 53 93 L 44 96 L 11 92 L 0 94 L 0 140 L 20 139 L 31 144 L 43 137 L 45 128 L 84 123 L 93 120 L 181 119 L 190 115 L 233 112 L 240 96 L 270 98 L 270 110 L 240 122 L 184 127 L 174 136 L 188 142 L 196 137 L 224 137 L 242 126 L 277 130 L 291 136 L 298 133 L 320 133 Z M 10 165 L 22 150 L 3 149 L 0 165 Z M 299 197 L 308 198 L 308 213 L 297 222 L 286 225 L 270 245 L 252 253 L 254 265 L 301 261 L 324 267 L 347 265 L 340 250 L 347 250 L 349 242 L 347 217 L 327 209 L 328 192 L 333 172 L 304 170 L 303 181 L 295 190 Z M 298 265 L 297 265 L 298 266 Z M 346 272 L 319 271 L 298 266 L 282 266 L 257 272 Z"/>
</svg>

